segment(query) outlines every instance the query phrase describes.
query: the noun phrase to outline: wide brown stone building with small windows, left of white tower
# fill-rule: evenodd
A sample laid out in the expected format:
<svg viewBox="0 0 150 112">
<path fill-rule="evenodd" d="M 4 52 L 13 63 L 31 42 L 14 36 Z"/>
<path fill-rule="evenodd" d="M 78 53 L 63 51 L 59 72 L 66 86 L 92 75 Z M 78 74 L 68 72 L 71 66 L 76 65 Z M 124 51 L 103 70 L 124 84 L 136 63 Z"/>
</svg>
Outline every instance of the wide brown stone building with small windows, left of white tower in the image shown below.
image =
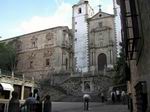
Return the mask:
<svg viewBox="0 0 150 112">
<path fill-rule="evenodd" d="M 16 37 L 17 73 L 47 77 L 73 69 L 72 35 L 68 27 L 56 27 Z"/>
</svg>

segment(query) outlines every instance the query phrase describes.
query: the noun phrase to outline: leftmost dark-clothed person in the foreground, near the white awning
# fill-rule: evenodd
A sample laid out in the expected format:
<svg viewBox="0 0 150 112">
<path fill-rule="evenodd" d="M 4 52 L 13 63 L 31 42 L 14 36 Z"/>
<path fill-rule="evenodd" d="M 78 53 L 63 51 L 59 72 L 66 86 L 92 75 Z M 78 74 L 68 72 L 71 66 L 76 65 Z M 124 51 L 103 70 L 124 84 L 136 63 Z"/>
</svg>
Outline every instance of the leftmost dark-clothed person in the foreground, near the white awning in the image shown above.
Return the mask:
<svg viewBox="0 0 150 112">
<path fill-rule="evenodd" d="M 20 102 L 18 99 L 18 93 L 13 91 L 12 98 L 9 101 L 8 112 L 19 112 L 20 111 Z"/>
</svg>

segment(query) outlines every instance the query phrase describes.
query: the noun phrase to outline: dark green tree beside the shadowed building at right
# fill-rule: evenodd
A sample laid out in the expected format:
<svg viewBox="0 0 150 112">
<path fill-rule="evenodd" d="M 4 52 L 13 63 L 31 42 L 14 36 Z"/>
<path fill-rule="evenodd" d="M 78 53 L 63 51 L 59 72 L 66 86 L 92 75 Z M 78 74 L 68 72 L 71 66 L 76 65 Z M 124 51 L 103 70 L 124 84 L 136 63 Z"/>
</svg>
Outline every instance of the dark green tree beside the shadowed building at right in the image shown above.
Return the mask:
<svg viewBox="0 0 150 112">
<path fill-rule="evenodd" d="M 117 58 L 117 64 L 115 66 L 116 74 L 113 77 L 114 85 L 125 84 L 126 83 L 126 74 L 125 74 L 125 55 L 123 52 L 123 45 L 120 43 L 120 53 Z"/>
</svg>

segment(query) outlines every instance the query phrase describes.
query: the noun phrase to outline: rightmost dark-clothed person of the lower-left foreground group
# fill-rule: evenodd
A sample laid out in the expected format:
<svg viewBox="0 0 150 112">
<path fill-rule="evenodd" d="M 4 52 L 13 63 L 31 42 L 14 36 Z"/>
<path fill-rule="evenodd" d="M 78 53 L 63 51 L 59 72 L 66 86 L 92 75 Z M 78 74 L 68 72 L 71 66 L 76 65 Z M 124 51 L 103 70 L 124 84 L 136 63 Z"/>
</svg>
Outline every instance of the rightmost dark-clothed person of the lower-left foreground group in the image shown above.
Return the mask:
<svg viewBox="0 0 150 112">
<path fill-rule="evenodd" d="M 46 95 L 44 101 L 44 112 L 51 112 L 52 111 L 52 102 L 50 95 Z"/>
</svg>

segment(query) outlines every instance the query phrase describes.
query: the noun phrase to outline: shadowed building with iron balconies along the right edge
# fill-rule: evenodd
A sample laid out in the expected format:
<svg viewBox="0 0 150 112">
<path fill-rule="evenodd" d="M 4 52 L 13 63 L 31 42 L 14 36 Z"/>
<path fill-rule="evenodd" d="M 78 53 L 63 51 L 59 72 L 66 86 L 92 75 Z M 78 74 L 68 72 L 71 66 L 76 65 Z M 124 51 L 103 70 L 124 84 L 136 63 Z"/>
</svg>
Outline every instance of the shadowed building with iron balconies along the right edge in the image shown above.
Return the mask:
<svg viewBox="0 0 150 112">
<path fill-rule="evenodd" d="M 133 112 L 150 111 L 150 2 L 117 0 L 121 9 L 128 94 Z M 132 106 L 131 106 L 132 107 Z"/>
</svg>

